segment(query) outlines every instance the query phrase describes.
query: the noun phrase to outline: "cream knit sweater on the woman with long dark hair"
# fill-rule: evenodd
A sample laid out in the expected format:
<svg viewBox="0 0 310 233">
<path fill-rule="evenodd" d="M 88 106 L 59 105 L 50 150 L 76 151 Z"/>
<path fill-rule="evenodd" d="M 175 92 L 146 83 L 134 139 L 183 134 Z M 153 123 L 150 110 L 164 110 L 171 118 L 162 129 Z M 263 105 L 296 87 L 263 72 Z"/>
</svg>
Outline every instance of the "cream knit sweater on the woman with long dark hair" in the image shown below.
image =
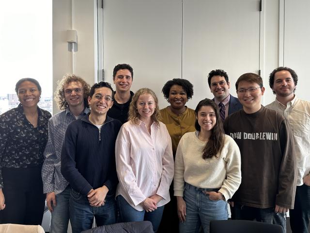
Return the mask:
<svg viewBox="0 0 310 233">
<path fill-rule="evenodd" d="M 195 132 L 180 140 L 174 162 L 174 196 L 183 197 L 184 183 L 199 188 L 220 188 L 225 199 L 232 198 L 241 183 L 240 151 L 233 138 L 225 134 L 218 156 L 202 159 L 205 142 Z"/>
</svg>

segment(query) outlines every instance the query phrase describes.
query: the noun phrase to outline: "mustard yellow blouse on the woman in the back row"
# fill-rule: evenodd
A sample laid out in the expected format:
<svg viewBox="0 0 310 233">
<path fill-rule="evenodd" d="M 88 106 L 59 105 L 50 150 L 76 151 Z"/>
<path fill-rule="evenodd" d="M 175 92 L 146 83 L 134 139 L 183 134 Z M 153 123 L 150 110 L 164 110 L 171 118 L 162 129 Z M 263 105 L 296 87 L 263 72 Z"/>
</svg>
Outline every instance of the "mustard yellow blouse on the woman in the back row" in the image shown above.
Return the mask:
<svg viewBox="0 0 310 233">
<path fill-rule="evenodd" d="M 184 133 L 194 132 L 195 129 L 195 111 L 187 108 L 181 115 L 176 115 L 169 110 L 169 106 L 160 110 L 162 122 L 166 125 L 171 136 L 173 158 L 176 149 Z"/>
</svg>

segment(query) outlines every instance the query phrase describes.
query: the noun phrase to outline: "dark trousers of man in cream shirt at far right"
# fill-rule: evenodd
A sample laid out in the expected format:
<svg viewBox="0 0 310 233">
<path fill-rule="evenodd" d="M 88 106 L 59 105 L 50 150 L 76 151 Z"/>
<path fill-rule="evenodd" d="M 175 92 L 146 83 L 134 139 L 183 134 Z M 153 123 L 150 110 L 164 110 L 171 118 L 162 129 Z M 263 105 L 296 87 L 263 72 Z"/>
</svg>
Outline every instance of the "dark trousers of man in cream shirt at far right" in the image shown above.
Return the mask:
<svg viewBox="0 0 310 233">
<path fill-rule="evenodd" d="M 310 186 L 296 187 L 294 210 L 290 210 L 292 233 L 308 233 L 310 218 Z"/>
</svg>

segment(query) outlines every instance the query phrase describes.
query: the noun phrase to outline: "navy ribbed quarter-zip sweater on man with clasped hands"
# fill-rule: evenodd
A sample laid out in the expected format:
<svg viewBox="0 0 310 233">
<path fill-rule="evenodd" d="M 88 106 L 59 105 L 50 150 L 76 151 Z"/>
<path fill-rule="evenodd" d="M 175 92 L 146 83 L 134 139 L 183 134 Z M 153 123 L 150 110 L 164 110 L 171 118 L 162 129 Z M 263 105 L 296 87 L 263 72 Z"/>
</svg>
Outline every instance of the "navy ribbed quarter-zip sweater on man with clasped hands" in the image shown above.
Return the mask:
<svg viewBox="0 0 310 233">
<path fill-rule="evenodd" d="M 61 171 L 71 187 L 87 195 L 91 189 L 106 185 L 109 195 L 118 184 L 115 165 L 115 141 L 122 126 L 107 116 L 99 130 L 89 114 L 68 125 L 62 146 Z"/>
</svg>

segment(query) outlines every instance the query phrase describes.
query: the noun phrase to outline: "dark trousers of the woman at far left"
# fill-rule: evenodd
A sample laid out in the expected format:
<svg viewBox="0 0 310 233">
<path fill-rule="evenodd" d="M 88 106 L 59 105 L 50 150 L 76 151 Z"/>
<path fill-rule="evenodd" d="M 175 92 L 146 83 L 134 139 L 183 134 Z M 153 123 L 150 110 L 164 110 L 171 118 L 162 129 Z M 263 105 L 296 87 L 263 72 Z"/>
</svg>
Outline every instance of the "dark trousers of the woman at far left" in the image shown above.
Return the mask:
<svg viewBox="0 0 310 233">
<path fill-rule="evenodd" d="M 45 194 L 41 167 L 2 168 L 5 208 L 0 211 L 0 223 L 41 225 Z"/>
</svg>

